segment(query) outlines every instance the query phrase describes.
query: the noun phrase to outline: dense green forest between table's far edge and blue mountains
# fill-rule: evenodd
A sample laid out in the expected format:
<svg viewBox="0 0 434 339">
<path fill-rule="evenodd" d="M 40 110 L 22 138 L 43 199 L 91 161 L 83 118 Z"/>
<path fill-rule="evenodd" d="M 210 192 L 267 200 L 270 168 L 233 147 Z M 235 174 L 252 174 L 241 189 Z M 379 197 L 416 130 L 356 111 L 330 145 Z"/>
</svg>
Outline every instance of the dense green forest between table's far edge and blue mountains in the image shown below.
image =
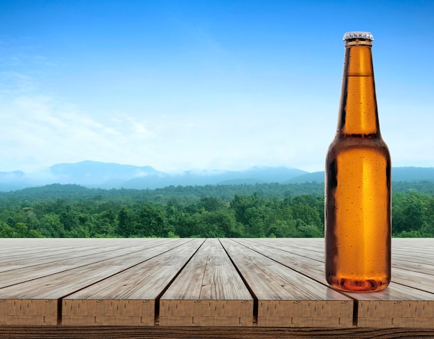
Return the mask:
<svg viewBox="0 0 434 339">
<path fill-rule="evenodd" d="M 0 237 L 322 237 L 324 184 L 0 192 Z M 434 237 L 434 183 L 397 182 L 392 236 Z"/>
</svg>

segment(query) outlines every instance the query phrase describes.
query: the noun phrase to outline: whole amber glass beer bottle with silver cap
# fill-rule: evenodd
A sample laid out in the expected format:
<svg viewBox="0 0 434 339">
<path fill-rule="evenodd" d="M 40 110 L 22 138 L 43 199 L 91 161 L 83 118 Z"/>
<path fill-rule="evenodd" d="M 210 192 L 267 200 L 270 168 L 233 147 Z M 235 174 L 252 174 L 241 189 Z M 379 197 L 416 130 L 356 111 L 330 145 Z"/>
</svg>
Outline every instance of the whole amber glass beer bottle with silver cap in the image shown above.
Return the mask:
<svg viewBox="0 0 434 339">
<path fill-rule="evenodd" d="M 338 130 L 325 168 L 326 278 L 340 290 L 390 283 L 390 153 L 376 106 L 372 37 L 344 35 Z"/>
</svg>

